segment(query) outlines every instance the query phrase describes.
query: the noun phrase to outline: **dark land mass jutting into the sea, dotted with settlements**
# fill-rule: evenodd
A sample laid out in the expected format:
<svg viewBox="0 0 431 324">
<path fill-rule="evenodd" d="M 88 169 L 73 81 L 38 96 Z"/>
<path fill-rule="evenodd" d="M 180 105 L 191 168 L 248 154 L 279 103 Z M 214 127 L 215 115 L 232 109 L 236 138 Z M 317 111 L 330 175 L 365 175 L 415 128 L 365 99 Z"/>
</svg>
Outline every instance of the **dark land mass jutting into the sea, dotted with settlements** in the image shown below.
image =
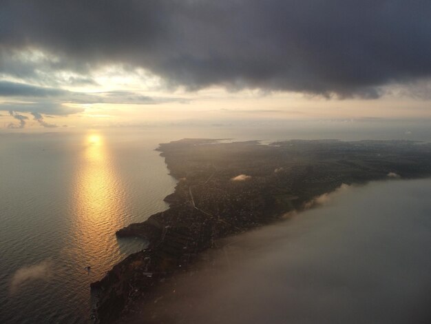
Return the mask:
<svg viewBox="0 0 431 324">
<path fill-rule="evenodd" d="M 316 197 L 343 184 L 431 175 L 431 144 L 414 141 L 259 141 L 220 143 L 182 139 L 160 144 L 175 192 L 169 209 L 118 230 L 119 237 L 146 239 L 92 283 L 98 323 L 121 323 L 142 305 L 161 298 L 156 289 L 186 272 L 199 254 L 220 239 L 304 210 Z M 139 306 L 138 306 L 139 305 Z M 140 323 L 157 323 L 143 314 Z"/>
</svg>

